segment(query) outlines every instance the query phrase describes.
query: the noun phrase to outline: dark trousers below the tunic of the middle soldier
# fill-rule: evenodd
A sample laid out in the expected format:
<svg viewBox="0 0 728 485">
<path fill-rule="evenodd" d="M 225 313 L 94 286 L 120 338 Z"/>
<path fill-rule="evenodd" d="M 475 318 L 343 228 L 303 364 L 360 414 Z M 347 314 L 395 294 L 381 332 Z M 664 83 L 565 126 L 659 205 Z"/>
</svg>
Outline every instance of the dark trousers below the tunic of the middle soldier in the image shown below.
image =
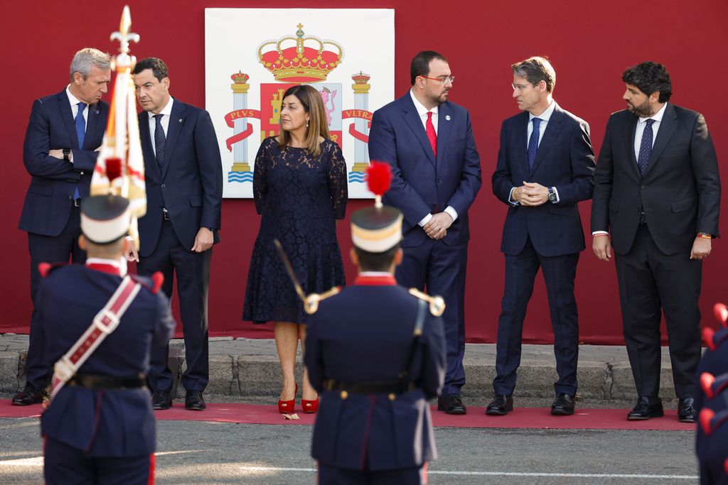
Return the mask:
<svg viewBox="0 0 728 485">
<path fill-rule="evenodd" d="M 421 485 L 427 484 L 427 466 L 394 470 L 349 470 L 318 465 L 318 485 Z"/>
</svg>

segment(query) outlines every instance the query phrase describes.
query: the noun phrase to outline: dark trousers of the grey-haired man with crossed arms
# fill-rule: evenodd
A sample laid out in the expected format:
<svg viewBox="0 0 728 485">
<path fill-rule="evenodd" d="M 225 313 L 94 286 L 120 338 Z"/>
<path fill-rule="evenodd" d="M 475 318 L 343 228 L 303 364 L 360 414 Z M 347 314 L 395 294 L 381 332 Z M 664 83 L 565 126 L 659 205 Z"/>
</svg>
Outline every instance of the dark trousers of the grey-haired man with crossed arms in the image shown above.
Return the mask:
<svg viewBox="0 0 728 485">
<path fill-rule="evenodd" d="M 38 265 L 41 262 L 85 262 L 86 252 L 79 248 L 81 235 L 81 213 L 78 207 L 71 208 L 66 226 L 58 236 L 42 236 L 28 233 L 28 252 L 31 254 L 31 314 L 30 342 L 28 342 L 28 358 L 25 361 L 25 382 L 36 389 L 43 388 L 48 381 L 49 368 L 44 364 L 43 348 L 45 345 L 43 331 L 39 325 L 39 314 L 36 310 L 36 292 L 41 282 Z"/>
</svg>

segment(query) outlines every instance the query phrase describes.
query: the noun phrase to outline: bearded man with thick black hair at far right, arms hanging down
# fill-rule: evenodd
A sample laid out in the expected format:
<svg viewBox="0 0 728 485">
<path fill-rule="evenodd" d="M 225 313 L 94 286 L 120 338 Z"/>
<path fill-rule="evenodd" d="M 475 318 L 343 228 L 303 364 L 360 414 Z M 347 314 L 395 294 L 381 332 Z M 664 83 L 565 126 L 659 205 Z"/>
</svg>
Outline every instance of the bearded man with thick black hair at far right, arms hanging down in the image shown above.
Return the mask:
<svg viewBox="0 0 728 485">
<path fill-rule="evenodd" d="M 594 176 L 594 254 L 616 253 L 622 325 L 638 401 L 630 420 L 662 416 L 665 314 L 678 418 L 695 422 L 703 258 L 718 236 L 718 161 L 700 113 L 668 103 L 670 76 L 641 63 L 622 74 L 627 109 L 609 117 Z M 609 233 L 612 231 L 612 244 Z"/>
</svg>

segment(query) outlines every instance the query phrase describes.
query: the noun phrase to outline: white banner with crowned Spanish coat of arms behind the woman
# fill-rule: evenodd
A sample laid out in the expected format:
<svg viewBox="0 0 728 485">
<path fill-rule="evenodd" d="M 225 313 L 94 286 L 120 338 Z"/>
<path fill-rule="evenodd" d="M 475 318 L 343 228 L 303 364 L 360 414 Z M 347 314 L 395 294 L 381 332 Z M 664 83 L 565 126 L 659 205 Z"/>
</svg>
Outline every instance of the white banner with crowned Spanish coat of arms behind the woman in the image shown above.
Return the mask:
<svg viewBox="0 0 728 485">
<path fill-rule="evenodd" d="M 222 154 L 223 197 L 253 197 L 253 164 L 277 135 L 283 92 L 311 84 L 347 160 L 350 198 L 364 183 L 371 113 L 395 94 L 393 9 L 205 9 L 205 104 Z"/>
</svg>

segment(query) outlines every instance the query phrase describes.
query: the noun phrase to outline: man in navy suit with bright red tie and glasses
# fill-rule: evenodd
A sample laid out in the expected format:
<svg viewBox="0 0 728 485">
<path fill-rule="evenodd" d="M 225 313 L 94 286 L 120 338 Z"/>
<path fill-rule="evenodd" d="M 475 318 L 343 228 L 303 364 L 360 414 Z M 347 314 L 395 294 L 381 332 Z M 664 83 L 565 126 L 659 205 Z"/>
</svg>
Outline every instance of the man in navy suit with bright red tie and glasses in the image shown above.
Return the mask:
<svg viewBox="0 0 728 485">
<path fill-rule="evenodd" d="M 445 298 L 448 369 L 438 409 L 465 414 L 465 270 L 470 240 L 467 210 L 480 190 L 480 157 L 470 113 L 448 101 L 447 60 L 423 51 L 410 66 L 412 89 L 374 112 L 369 158 L 392 165 L 384 201 L 404 214 L 404 260 L 397 282 Z"/>
</svg>

